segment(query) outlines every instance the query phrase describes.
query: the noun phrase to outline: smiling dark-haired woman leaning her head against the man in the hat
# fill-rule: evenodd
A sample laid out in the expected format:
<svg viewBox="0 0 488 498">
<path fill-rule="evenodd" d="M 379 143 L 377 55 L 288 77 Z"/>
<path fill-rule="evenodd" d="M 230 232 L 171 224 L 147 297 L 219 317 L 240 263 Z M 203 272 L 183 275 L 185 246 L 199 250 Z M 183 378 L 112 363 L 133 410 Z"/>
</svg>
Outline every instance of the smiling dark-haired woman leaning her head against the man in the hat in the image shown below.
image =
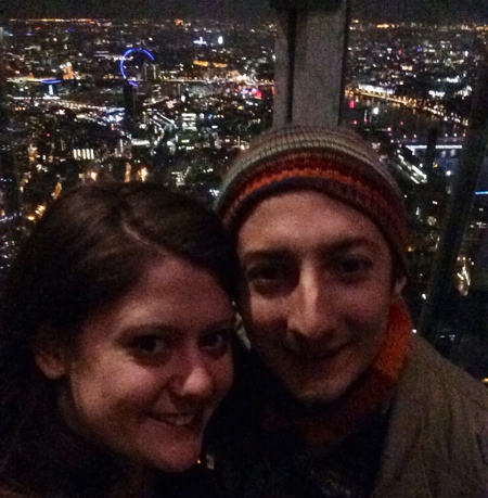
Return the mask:
<svg viewBox="0 0 488 498">
<path fill-rule="evenodd" d="M 209 496 L 234 261 L 214 214 L 160 187 L 55 201 L 1 303 L 0 496 Z"/>
</svg>

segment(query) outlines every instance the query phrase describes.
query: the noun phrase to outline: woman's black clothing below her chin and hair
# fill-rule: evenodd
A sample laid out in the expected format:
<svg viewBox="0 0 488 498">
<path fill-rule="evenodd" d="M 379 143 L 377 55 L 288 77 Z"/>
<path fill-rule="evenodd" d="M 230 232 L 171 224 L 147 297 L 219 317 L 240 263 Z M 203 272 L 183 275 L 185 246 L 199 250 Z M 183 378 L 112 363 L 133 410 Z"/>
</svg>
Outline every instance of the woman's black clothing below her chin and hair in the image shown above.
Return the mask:
<svg viewBox="0 0 488 498">
<path fill-rule="evenodd" d="M 86 440 L 56 416 L 44 413 L 36 422 L 0 468 L 0 498 L 217 498 L 200 464 L 182 473 L 154 470 L 146 491 L 129 493 L 124 459 Z"/>
</svg>

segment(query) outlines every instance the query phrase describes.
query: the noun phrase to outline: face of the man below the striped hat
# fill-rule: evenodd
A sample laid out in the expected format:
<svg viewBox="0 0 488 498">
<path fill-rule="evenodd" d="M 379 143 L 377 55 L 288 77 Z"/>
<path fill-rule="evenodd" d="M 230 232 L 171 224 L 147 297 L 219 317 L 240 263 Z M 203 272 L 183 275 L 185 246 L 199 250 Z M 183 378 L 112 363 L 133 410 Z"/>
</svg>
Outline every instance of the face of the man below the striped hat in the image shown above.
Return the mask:
<svg viewBox="0 0 488 498">
<path fill-rule="evenodd" d="M 324 194 L 291 192 L 258 204 L 237 251 L 253 348 L 298 400 L 337 399 L 373 362 L 400 288 L 374 222 Z"/>
</svg>

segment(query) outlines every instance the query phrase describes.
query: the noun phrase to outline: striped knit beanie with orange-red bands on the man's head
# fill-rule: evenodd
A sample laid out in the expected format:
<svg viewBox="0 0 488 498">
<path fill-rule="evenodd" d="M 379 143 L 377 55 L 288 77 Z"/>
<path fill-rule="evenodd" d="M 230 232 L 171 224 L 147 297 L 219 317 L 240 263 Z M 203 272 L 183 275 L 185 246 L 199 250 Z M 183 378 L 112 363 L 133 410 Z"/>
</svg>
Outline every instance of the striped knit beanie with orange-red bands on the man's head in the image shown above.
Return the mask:
<svg viewBox="0 0 488 498">
<path fill-rule="evenodd" d="M 297 189 L 323 192 L 371 218 L 407 270 L 402 195 L 371 146 L 345 128 L 288 125 L 262 133 L 232 165 L 216 210 L 234 235 L 260 201 Z"/>
</svg>

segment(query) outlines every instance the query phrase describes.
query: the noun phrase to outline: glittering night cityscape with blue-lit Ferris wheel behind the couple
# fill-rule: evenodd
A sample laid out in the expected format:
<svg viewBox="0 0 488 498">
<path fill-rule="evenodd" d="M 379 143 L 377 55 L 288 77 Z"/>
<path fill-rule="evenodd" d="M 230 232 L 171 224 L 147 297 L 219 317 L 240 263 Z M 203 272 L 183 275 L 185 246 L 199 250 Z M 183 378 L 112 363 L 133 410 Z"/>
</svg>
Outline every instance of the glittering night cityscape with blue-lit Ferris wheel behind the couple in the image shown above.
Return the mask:
<svg viewBox="0 0 488 498">
<path fill-rule="evenodd" d="M 397 0 L 388 9 L 396 4 L 403 21 L 386 22 L 386 8 L 375 17 L 380 2 L 369 3 L 365 15 L 364 1 L 352 1 L 343 124 L 370 141 L 404 193 L 414 322 L 460 163 L 480 48 L 488 44 L 487 23 L 457 14 L 476 2 L 436 0 L 422 11 Z M 231 0 L 160 7 L 18 0 L 15 12 L 4 8 L 0 273 L 63 191 L 93 181 L 153 181 L 210 206 L 233 158 L 272 126 L 283 60 L 268 0 L 245 5 L 259 14 L 249 23 L 235 22 L 243 5 Z M 435 24 L 408 21 L 436 12 Z M 444 22 L 449 17 L 455 23 Z M 485 192 L 488 165 L 481 176 Z M 461 297 L 476 280 L 487 199 L 476 196 L 455 265 Z"/>
</svg>

